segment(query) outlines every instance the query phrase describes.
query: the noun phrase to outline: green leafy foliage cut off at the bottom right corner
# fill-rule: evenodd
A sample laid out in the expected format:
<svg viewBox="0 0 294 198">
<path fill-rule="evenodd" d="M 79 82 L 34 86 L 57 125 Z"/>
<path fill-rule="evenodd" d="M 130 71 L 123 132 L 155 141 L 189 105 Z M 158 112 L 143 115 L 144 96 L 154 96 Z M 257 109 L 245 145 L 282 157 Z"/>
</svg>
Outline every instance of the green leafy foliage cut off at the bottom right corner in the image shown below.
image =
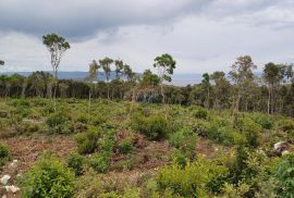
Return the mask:
<svg viewBox="0 0 294 198">
<path fill-rule="evenodd" d="M 278 195 L 292 198 L 294 195 L 294 154 L 285 154 L 274 168 L 273 176 L 278 180 Z"/>
</svg>

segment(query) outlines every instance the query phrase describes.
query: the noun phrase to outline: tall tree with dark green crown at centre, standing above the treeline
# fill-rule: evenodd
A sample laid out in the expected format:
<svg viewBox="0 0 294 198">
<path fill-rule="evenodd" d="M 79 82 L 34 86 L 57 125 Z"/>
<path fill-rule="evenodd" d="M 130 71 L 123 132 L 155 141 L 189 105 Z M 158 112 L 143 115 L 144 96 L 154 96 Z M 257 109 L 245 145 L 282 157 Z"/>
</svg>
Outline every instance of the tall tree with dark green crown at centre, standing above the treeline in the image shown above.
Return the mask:
<svg viewBox="0 0 294 198">
<path fill-rule="evenodd" d="M 176 62 L 173 60 L 173 58 L 164 53 L 160 57 L 157 57 L 155 59 L 154 67 L 157 67 L 158 70 L 158 77 L 160 78 L 160 90 L 162 96 L 162 103 L 166 102 L 164 98 L 164 90 L 163 90 L 163 82 L 171 82 L 171 75 L 173 74 L 173 70 L 175 69 Z"/>
</svg>

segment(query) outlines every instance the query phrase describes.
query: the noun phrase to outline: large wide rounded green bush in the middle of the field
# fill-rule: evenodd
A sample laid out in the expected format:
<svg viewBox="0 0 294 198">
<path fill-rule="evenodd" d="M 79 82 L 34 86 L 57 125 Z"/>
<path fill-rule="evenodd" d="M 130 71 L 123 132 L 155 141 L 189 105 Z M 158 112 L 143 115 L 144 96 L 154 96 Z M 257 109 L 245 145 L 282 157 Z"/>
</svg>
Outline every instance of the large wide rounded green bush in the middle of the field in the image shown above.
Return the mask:
<svg viewBox="0 0 294 198">
<path fill-rule="evenodd" d="M 160 140 L 170 132 L 169 122 L 160 114 L 144 116 L 136 114 L 132 119 L 132 126 L 135 131 L 143 133 L 151 140 Z"/>
</svg>

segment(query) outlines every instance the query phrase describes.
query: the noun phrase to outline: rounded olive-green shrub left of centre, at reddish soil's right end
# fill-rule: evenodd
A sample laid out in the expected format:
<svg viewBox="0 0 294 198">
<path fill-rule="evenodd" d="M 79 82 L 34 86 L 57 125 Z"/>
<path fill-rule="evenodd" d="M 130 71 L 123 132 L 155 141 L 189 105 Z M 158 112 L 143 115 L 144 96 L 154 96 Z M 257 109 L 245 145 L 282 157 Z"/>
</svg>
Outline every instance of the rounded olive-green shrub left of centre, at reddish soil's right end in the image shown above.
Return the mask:
<svg viewBox="0 0 294 198">
<path fill-rule="evenodd" d="M 101 133 L 99 128 L 90 128 L 83 134 L 77 134 L 75 140 L 77 143 L 77 151 L 81 154 L 93 153 L 98 147 L 98 139 Z"/>
</svg>

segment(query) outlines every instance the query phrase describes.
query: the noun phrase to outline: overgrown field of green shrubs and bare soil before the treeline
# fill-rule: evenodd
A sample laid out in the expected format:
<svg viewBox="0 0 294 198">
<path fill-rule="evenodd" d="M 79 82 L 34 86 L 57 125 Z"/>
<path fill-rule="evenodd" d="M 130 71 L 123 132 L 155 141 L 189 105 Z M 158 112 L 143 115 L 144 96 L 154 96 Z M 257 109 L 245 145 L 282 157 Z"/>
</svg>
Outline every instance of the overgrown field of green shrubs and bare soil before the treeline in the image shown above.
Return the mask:
<svg viewBox="0 0 294 198">
<path fill-rule="evenodd" d="M 294 120 L 128 101 L 0 100 L 8 197 L 293 197 Z M 16 161 L 17 160 L 17 161 Z"/>
</svg>

